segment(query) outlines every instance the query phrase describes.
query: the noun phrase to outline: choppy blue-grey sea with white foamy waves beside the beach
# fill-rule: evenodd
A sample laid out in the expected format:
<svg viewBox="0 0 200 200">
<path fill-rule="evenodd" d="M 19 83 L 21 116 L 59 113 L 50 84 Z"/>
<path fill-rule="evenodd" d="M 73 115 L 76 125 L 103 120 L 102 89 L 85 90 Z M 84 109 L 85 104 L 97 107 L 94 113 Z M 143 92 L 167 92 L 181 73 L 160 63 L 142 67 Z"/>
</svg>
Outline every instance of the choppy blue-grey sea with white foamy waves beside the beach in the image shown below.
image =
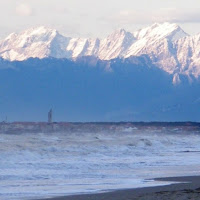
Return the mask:
<svg viewBox="0 0 200 200">
<path fill-rule="evenodd" d="M 200 175 L 199 158 L 200 135 L 178 129 L 0 134 L 0 199 L 163 184 L 145 179 Z"/>
</svg>

